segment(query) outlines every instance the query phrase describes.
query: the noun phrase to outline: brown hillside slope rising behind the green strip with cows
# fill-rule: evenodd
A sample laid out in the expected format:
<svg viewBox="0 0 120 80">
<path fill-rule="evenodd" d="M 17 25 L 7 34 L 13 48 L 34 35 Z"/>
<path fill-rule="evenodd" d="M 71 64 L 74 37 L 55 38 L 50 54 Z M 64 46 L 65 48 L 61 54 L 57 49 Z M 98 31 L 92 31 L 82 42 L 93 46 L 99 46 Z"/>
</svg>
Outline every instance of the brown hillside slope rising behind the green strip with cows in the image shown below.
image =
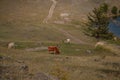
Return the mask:
<svg viewBox="0 0 120 80">
<path fill-rule="evenodd" d="M 120 6 L 120 0 L 56 1 L 57 4 L 51 0 L 0 0 L 0 40 L 62 41 L 70 38 L 73 42 L 89 42 L 79 21 L 85 20 L 86 15 L 103 2 Z M 43 24 L 46 18 L 50 23 L 63 25 Z M 64 24 L 69 21 L 79 24 Z"/>
</svg>

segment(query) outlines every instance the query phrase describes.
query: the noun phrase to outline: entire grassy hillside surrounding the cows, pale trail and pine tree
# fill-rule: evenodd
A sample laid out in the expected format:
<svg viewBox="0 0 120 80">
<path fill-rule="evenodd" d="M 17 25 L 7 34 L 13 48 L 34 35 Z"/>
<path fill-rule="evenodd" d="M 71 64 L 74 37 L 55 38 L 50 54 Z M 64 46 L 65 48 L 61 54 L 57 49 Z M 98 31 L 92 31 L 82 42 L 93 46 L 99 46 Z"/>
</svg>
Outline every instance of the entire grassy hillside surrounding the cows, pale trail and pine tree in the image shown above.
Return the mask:
<svg viewBox="0 0 120 80">
<path fill-rule="evenodd" d="M 120 6 L 120 0 L 58 0 L 45 24 L 50 0 L 0 0 L 0 80 L 119 80 L 120 41 L 95 48 L 81 23 L 103 2 Z M 64 21 L 62 13 L 70 22 L 54 24 Z M 56 45 L 61 54 L 49 54 L 47 47 Z"/>
</svg>

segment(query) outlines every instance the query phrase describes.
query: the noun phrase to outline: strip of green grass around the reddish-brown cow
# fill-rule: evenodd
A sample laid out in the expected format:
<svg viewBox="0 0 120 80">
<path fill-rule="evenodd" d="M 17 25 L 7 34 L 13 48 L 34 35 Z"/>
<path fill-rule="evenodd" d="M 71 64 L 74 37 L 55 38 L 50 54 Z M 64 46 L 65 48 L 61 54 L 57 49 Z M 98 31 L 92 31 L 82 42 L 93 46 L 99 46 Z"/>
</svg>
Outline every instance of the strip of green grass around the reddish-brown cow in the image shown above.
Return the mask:
<svg viewBox="0 0 120 80">
<path fill-rule="evenodd" d="M 7 48 L 8 42 L 0 42 L 0 45 L 4 48 Z M 73 43 L 62 43 L 62 42 L 15 42 L 16 50 L 25 50 L 31 48 L 40 48 L 40 47 L 48 47 L 48 46 L 58 46 L 61 55 L 66 56 L 113 56 L 114 52 L 106 49 L 104 47 L 97 47 L 85 44 L 73 44 Z M 33 51 L 34 52 L 34 51 Z M 48 50 L 39 50 L 38 53 L 48 53 Z"/>
</svg>

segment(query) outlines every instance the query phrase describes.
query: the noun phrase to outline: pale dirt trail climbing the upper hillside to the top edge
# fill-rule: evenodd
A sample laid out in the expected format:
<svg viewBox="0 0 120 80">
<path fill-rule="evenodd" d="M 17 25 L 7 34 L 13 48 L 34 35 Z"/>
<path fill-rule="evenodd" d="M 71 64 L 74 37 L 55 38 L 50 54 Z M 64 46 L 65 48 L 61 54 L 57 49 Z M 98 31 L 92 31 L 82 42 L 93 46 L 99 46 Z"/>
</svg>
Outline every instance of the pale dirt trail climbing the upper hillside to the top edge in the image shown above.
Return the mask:
<svg viewBox="0 0 120 80">
<path fill-rule="evenodd" d="M 52 18 L 52 15 L 54 13 L 55 7 L 57 5 L 57 1 L 56 0 L 50 0 L 53 2 L 52 6 L 49 9 L 49 13 L 48 16 L 43 20 L 43 23 L 48 23 L 48 20 Z"/>
</svg>

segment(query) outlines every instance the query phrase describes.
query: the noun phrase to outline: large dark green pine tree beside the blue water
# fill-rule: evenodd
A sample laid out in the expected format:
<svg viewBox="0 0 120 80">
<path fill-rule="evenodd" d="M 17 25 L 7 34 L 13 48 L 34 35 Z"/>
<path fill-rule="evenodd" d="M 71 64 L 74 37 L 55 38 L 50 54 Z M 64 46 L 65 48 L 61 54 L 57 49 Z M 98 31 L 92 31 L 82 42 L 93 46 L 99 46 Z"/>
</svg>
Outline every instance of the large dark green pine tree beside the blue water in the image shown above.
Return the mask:
<svg viewBox="0 0 120 80">
<path fill-rule="evenodd" d="M 107 17 L 108 5 L 103 4 L 98 8 L 94 8 L 92 13 L 88 15 L 88 31 L 89 35 L 96 39 L 110 39 L 112 34 L 109 32 Z"/>
</svg>

